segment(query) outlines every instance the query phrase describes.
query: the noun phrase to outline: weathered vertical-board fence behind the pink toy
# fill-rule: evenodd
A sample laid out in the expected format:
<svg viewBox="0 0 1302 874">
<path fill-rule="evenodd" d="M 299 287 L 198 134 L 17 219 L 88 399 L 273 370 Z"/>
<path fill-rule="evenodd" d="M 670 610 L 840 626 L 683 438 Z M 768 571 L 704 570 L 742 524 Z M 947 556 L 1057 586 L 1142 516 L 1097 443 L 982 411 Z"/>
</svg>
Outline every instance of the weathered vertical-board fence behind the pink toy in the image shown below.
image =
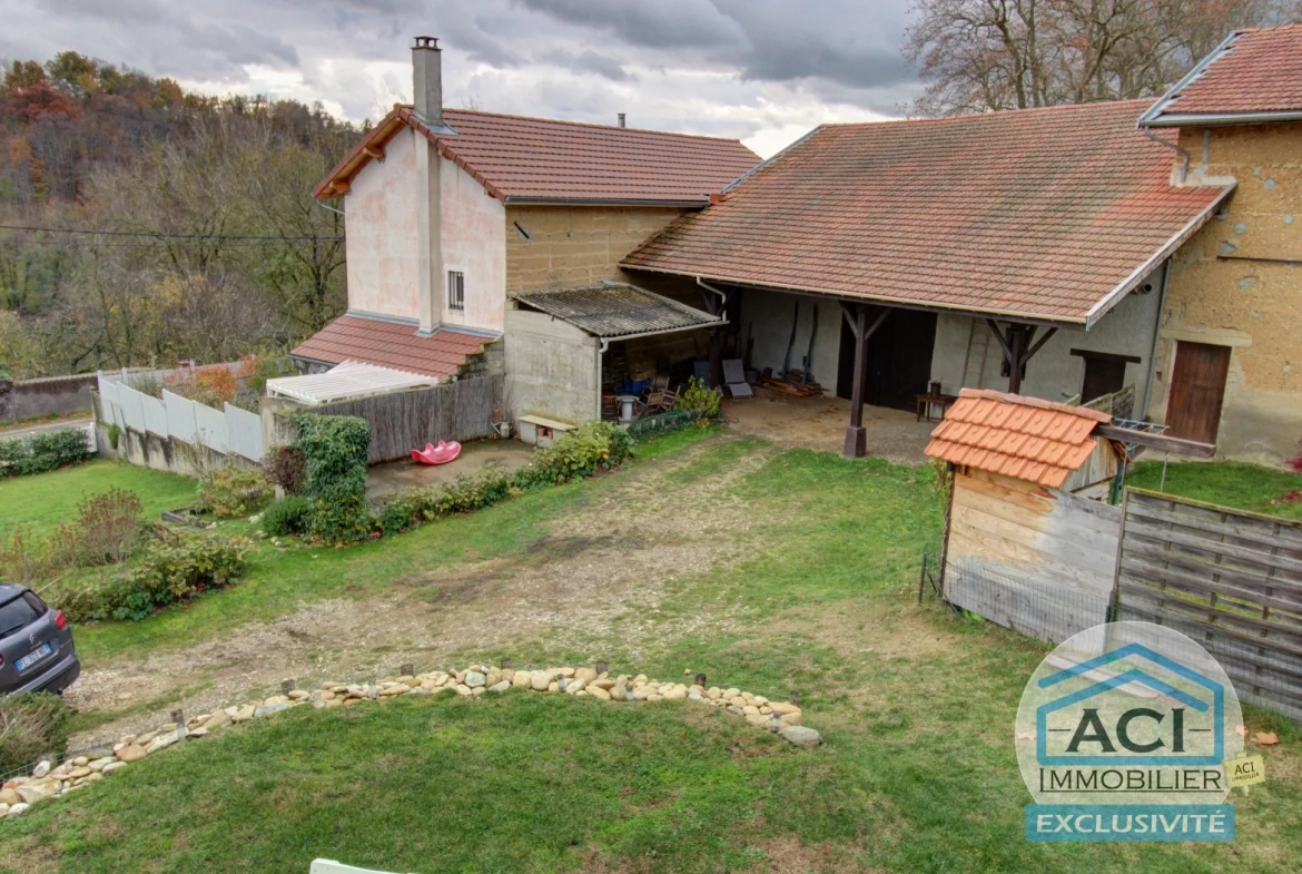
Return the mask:
<svg viewBox="0 0 1302 874">
<path fill-rule="evenodd" d="M 410 457 L 411 449 L 439 440 L 474 440 L 493 435 L 505 378 L 461 379 L 435 388 L 363 397 L 314 408 L 322 416 L 359 416 L 371 423 L 368 464 Z"/>
</svg>

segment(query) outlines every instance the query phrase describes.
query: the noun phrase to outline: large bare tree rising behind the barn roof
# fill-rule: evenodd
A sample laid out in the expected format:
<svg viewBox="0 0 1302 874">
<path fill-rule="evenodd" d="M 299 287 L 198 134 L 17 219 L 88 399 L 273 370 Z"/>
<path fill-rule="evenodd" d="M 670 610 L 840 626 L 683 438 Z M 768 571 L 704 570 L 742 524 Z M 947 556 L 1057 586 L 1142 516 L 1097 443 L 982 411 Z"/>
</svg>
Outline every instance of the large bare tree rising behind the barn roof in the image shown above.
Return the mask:
<svg viewBox="0 0 1302 874">
<path fill-rule="evenodd" d="M 905 56 L 918 115 L 1155 96 L 1230 30 L 1290 21 L 1284 0 L 918 0 Z"/>
</svg>

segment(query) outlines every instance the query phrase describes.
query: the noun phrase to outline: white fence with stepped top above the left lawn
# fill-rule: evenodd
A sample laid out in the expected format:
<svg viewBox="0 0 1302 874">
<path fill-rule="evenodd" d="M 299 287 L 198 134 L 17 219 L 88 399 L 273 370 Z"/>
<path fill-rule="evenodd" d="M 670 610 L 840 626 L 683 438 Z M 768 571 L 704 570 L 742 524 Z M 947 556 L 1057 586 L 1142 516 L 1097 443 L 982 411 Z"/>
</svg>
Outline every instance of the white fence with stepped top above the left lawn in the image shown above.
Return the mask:
<svg viewBox="0 0 1302 874">
<path fill-rule="evenodd" d="M 176 438 L 223 455 L 262 461 L 262 418 L 225 405 L 217 410 L 164 389 L 163 400 L 138 392 L 116 375 L 99 374 L 104 418 L 120 429 Z"/>
</svg>

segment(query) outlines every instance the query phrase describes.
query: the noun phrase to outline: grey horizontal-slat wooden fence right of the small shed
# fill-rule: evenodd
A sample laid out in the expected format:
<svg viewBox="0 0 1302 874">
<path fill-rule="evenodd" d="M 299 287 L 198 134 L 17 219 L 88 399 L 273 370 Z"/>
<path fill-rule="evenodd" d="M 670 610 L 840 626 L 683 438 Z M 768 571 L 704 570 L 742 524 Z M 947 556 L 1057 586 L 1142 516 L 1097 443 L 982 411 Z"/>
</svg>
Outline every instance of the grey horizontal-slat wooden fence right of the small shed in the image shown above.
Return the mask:
<svg viewBox="0 0 1302 874">
<path fill-rule="evenodd" d="M 1117 619 L 1184 632 L 1241 699 L 1302 719 L 1302 524 L 1128 490 Z"/>
</svg>

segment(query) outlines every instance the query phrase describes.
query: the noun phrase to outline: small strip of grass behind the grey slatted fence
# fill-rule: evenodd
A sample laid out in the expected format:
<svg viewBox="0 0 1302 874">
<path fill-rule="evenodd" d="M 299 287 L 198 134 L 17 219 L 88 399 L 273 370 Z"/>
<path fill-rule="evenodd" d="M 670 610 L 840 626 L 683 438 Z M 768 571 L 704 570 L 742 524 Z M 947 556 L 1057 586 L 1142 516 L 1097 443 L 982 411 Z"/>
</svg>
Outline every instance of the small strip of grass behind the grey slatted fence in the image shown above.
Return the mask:
<svg viewBox="0 0 1302 874">
<path fill-rule="evenodd" d="M 1167 481 L 1163 486 L 1161 462 L 1141 461 L 1130 469 L 1126 485 L 1208 504 L 1302 520 L 1302 474 L 1290 470 L 1240 461 L 1170 464 L 1167 465 Z"/>
</svg>

